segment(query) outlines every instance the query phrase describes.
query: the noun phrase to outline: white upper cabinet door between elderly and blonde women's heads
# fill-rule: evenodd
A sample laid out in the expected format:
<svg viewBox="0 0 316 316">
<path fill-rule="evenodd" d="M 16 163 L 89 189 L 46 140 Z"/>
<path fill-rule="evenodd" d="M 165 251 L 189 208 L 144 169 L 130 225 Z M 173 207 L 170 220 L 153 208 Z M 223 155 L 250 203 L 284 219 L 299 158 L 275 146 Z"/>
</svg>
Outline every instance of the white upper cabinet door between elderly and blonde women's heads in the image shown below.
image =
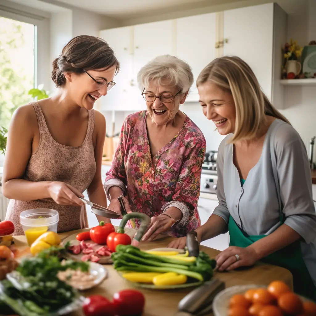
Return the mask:
<svg viewBox="0 0 316 316">
<path fill-rule="evenodd" d="M 194 76 L 187 101 L 197 101 L 197 76 L 216 58 L 216 13 L 188 16 L 177 19 L 176 23 L 176 56 L 191 66 Z"/>
</svg>

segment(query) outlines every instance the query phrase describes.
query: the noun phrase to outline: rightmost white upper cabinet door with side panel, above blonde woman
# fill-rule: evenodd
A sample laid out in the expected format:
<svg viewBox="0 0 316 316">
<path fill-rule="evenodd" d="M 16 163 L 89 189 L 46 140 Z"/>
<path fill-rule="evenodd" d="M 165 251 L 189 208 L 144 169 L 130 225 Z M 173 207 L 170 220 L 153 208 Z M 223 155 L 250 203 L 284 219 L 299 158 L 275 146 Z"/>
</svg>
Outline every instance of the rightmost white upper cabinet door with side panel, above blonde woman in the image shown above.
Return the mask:
<svg viewBox="0 0 316 316">
<path fill-rule="evenodd" d="M 224 55 L 242 58 L 252 68 L 274 106 L 283 106 L 281 47 L 286 41 L 286 13 L 276 3 L 224 11 Z"/>
</svg>

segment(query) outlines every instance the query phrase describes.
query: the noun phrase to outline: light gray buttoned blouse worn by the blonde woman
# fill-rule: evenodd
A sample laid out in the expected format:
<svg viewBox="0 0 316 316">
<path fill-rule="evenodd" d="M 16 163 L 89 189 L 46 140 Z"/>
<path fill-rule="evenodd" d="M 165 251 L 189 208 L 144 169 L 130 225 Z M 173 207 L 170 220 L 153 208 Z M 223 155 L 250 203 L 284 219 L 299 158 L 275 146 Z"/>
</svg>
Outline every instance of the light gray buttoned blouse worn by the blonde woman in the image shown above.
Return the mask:
<svg viewBox="0 0 316 316">
<path fill-rule="evenodd" d="M 227 143 L 230 137 L 231 134 L 226 136 L 218 149 L 219 205 L 213 214 L 226 223 L 230 214 L 248 235 L 268 235 L 278 228 L 280 206 L 270 150 L 274 148 L 284 223 L 302 236 L 303 259 L 316 286 L 316 214 L 312 177 L 301 137 L 291 125 L 276 119 L 265 136 L 261 157 L 249 171 L 243 187 L 233 163 L 233 145 Z"/>
</svg>

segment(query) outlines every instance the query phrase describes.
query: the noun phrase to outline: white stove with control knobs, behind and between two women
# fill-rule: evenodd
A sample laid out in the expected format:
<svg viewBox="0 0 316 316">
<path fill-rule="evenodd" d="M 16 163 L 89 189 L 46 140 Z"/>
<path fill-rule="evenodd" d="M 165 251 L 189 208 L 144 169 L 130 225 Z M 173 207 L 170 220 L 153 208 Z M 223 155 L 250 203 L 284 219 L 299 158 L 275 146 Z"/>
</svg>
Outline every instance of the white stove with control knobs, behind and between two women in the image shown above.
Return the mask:
<svg viewBox="0 0 316 316">
<path fill-rule="evenodd" d="M 217 151 L 207 151 L 205 153 L 201 174 L 201 192 L 216 194 L 217 171 L 216 171 Z"/>
</svg>

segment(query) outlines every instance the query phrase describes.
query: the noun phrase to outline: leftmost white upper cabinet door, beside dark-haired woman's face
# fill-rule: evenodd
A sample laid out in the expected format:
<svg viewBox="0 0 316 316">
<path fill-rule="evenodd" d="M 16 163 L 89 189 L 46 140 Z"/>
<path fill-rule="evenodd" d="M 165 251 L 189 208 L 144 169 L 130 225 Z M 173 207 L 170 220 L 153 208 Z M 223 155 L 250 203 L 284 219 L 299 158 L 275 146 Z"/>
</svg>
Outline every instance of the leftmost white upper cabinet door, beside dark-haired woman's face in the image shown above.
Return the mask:
<svg viewBox="0 0 316 316">
<path fill-rule="evenodd" d="M 119 27 L 100 31 L 100 37 L 107 41 L 120 63 L 120 71 L 114 76 L 115 86 L 100 98 L 102 111 L 126 111 L 132 98 L 133 55 L 131 54 L 133 27 Z"/>
</svg>

